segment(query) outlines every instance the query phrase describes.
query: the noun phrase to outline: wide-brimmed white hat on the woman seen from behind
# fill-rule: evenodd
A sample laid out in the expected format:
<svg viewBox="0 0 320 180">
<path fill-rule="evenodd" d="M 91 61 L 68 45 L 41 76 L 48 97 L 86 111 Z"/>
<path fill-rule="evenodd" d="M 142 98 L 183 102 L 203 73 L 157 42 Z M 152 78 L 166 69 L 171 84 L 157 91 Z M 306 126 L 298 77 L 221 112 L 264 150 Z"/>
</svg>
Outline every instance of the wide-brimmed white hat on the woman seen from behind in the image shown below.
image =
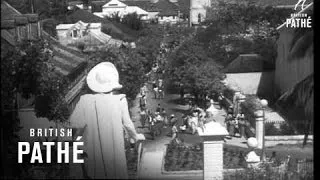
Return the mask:
<svg viewBox="0 0 320 180">
<path fill-rule="evenodd" d="M 102 62 L 93 67 L 87 75 L 87 84 L 92 91 L 100 93 L 122 88 L 119 73 L 111 62 Z"/>
</svg>

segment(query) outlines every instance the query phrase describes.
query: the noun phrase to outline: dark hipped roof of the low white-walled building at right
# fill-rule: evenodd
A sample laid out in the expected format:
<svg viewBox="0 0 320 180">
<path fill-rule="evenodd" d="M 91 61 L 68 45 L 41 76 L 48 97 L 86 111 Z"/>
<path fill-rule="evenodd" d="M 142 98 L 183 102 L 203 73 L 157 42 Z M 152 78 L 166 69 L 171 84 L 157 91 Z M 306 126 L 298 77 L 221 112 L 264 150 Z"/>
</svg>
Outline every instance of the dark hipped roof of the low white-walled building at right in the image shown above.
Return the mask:
<svg viewBox="0 0 320 180">
<path fill-rule="evenodd" d="M 248 73 L 262 72 L 269 65 L 258 54 L 240 54 L 236 59 L 229 63 L 224 69 L 224 73 Z"/>
</svg>

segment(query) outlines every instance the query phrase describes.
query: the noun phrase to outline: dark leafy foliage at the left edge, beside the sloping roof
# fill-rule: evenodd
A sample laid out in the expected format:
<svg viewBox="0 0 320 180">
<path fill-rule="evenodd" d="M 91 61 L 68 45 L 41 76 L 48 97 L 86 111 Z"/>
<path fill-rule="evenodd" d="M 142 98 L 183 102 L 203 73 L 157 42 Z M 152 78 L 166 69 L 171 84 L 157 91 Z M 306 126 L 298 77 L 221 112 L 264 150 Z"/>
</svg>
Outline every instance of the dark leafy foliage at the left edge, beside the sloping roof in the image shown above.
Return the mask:
<svg viewBox="0 0 320 180">
<path fill-rule="evenodd" d="M 1 56 L 2 98 L 12 102 L 16 93 L 23 98 L 41 98 L 41 105 L 35 106 L 36 115 L 49 120 L 63 121 L 68 116 L 64 100 L 66 80 L 54 71 L 50 61 L 49 45 L 42 40 L 25 41 L 17 49 Z"/>
</svg>

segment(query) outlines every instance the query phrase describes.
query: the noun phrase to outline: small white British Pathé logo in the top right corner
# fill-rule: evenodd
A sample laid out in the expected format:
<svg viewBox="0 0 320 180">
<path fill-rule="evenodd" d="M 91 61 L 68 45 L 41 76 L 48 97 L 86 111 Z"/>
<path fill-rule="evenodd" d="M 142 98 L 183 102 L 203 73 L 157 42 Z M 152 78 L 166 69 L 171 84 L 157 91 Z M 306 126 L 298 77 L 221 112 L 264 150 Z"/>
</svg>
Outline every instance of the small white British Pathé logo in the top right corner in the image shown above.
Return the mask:
<svg viewBox="0 0 320 180">
<path fill-rule="evenodd" d="M 299 0 L 294 6 L 294 10 L 301 4 L 301 11 L 306 8 L 306 0 Z M 311 28 L 311 17 L 307 13 L 292 13 L 291 17 L 287 19 L 286 26 L 289 28 Z"/>
</svg>

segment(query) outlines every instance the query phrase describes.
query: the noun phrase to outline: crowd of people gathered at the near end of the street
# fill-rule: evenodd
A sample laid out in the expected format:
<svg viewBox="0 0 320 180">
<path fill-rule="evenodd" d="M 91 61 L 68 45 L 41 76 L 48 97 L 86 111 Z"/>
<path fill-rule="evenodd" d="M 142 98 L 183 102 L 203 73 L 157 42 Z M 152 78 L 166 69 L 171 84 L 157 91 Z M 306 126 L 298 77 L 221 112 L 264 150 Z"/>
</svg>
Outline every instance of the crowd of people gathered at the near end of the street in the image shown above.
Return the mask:
<svg viewBox="0 0 320 180">
<path fill-rule="evenodd" d="M 152 91 L 154 93 L 155 99 L 161 99 L 164 97 L 164 86 L 163 80 L 158 79 L 156 81 L 152 81 Z M 151 112 L 147 109 L 146 104 L 146 94 L 148 92 L 147 84 L 145 84 L 140 91 L 140 121 L 142 128 L 146 127 L 148 124 L 148 128 L 150 130 L 150 134 L 153 139 L 160 135 L 162 132 L 162 128 L 171 128 L 172 140 L 176 140 L 179 142 L 178 133 L 190 133 L 196 134 L 198 128 L 202 128 L 206 123 L 210 121 L 215 121 L 215 116 L 218 113 L 218 109 L 214 105 L 214 101 L 212 98 L 206 97 L 206 107 L 200 108 L 197 104 L 190 102 L 189 111 L 183 115 L 182 117 L 182 125 L 181 123 L 177 123 L 177 118 L 174 114 L 168 117 L 164 108 L 161 107 L 160 104 L 156 107 L 154 112 Z M 160 95 L 163 92 L 162 95 Z M 183 92 L 181 93 L 181 98 L 183 98 Z M 223 94 L 219 94 L 218 102 L 220 109 L 221 101 L 223 100 Z M 227 115 L 225 118 L 225 124 L 227 130 L 229 132 L 228 138 L 231 139 L 233 137 L 245 138 L 253 137 L 254 134 L 250 130 L 250 123 L 246 120 L 244 113 L 241 110 L 235 111 L 232 107 L 229 107 L 227 110 Z"/>
</svg>

